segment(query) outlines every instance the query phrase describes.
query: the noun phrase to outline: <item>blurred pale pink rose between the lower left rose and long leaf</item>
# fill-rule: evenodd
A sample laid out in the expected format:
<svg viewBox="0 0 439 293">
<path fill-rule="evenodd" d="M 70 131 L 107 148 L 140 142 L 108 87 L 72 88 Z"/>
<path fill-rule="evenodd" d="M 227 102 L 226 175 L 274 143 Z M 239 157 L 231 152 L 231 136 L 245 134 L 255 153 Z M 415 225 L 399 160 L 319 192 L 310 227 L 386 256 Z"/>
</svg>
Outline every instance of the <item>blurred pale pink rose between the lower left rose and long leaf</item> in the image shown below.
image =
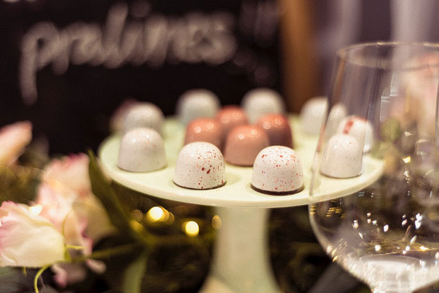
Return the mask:
<svg viewBox="0 0 439 293">
<path fill-rule="evenodd" d="M 52 160 L 44 171 L 36 198 L 36 204 L 43 207 L 41 215 L 64 233 L 66 244 L 82 247 L 69 250 L 70 253 L 90 255 L 93 243 L 114 228 L 102 203 L 91 191 L 88 156 L 72 154 Z M 93 260 L 86 261 L 86 265 L 96 272 L 105 268 L 102 262 Z M 60 286 L 82 281 L 86 275 L 84 266 L 78 263 L 58 263 L 52 271 Z"/>
</svg>

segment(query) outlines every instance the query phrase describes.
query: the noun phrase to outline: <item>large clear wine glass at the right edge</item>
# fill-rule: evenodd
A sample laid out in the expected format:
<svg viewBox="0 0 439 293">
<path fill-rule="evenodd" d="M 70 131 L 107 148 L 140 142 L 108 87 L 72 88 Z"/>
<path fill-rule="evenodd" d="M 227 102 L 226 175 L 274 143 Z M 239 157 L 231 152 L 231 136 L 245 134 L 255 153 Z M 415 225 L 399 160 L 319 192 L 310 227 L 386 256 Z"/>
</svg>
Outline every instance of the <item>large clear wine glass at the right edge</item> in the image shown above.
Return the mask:
<svg viewBox="0 0 439 293">
<path fill-rule="evenodd" d="M 310 204 L 309 216 L 327 254 L 372 292 L 439 279 L 438 75 L 435 44 L 337 54 L 310 192 L 336 185 L 342 196 Z"/>
</svg>

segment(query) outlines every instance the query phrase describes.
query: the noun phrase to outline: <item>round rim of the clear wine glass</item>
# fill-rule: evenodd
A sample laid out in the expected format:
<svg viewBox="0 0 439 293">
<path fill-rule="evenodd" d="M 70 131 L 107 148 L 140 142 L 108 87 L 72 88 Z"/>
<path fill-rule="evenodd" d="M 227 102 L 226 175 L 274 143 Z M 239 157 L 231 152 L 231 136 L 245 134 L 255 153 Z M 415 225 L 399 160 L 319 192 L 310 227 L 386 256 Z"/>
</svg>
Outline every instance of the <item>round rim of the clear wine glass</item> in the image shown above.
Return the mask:
<svg viewBox="0 0 439 293">
<path fill-rule="evenodd" d="M 431 43 L 431 42 L 392 42 L 392 41 L 377 41 L 377 42 L 368 42 L 368 43 L 356 43 L 353 45 L 348 45 L 346 47 L 342 47 L 337 50 L 337 58 L 344 60 L 344 62 L 351 63 L 353 65 L 359 65 L 362 67 L 370 67 L 371 69 L 383 69 L 388 70 L 391 69 L 390 67 L 383 66 L 382 63 L 379 63 L 379 65 L 370 64 L 370 62 L 359 62 L 353 60 L 353 58 L 348 56 L 349 51 L 353 51 L 355 49 L 360 48 L 371 48 L 371 47 L 387 47 L 387 48 L 396 48 L 396 47 L 423 47 L 426 49 L 435 49 L 439 57 L 439 43 Z M 426 68 L 439 68 L 439 58 L 435 62 L 429 62 L 424 63 L 421 65 L 410 65 L 407 67 L 403 67 L 404 71 L 414 71 L 414 70 L 420 70 L 420 69 L 426 69 Z"/>
</svg>

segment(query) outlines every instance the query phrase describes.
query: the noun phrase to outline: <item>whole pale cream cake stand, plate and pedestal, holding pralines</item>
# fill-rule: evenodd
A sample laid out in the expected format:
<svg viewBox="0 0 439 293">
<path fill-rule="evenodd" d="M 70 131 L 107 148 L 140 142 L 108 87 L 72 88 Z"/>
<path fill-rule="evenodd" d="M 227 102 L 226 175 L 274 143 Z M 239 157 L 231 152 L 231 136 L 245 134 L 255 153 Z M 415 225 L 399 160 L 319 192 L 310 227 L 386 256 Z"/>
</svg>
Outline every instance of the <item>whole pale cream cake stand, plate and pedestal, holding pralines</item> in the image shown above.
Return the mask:
<svg viewBox="0 0 439 293">
<path fill-rule="evenodd" d="M 163 137 L 168 165 L 164 169 L 147 173 L 119 169 L 120 134 L 114 134 L 102 143 L 99 159 L 106 174 L 130 189 L 167 200 L 215 207 L 222 226 L 215 242 L 212 270 L 201 292 L 278 292 L 268 255 L 269 209 L 295 207 L 352 194 L 375 182 L 383 172 L 383 162 L 366 155 L 361 176 L 347 179 L 319 176 L 310 196 L 311 165 L 318 137 L 302 134 L 298 119 L 289 119 L 294 150 L 302 161 L 305 185 L 305 189 L 293 195 L 270 196 L 254 191 L 250 187 L 252 167 L 227 163 L 226 185 L 223 187 L 208 190 L 178 187 L 172 179 L 185 129 L 174 118 L 165 121 Z"/>
</svg>

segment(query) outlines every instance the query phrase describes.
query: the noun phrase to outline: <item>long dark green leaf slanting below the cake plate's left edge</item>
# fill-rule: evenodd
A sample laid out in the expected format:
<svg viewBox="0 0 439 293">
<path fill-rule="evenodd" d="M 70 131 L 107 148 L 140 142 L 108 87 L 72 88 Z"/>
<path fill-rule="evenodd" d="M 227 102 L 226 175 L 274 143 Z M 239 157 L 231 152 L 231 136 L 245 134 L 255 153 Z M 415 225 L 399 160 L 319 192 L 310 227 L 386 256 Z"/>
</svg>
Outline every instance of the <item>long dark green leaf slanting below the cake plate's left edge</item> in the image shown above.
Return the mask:
<svg viewBox="0 0 439 293">
<path fill-rule="evenodd" d="M 88 151 L 88 156 L 90 156 L 90 164 L 88 167 L 91 189 L 93 194 L 104 204 L 110 221 L 121 234 L 145 242 L 145 238 L 131 228 L 130 218 L 123 210 L 115 191 L 99 168 L 97 159 L 91 150 Z"/>
</svg>

